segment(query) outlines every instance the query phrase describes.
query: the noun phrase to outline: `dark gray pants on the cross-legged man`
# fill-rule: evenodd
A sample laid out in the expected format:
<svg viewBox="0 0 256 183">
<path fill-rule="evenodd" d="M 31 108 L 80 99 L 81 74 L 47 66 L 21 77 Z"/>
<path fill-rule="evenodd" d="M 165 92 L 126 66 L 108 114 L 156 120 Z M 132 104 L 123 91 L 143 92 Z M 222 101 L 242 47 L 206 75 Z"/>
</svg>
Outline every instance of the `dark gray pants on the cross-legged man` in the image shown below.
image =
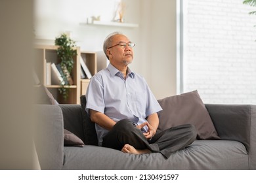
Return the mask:
<svg viewBox="0 0 256 183">
<path fill-rule="evenodd" d="M 136 149 L 147 148 L 152 152 L 160 152 L 165 158 L 169 158 L 171 152 L 185 148 L 195 139 L 196 128 L 194 125 L 184 124 L 157 132 L 148 141 L 140 129 L 130 120 L 124 119 L 117 122 L 103 137 L 102 146 L 121 150 L 125 144 L 130 144 Z"/>
</svg>

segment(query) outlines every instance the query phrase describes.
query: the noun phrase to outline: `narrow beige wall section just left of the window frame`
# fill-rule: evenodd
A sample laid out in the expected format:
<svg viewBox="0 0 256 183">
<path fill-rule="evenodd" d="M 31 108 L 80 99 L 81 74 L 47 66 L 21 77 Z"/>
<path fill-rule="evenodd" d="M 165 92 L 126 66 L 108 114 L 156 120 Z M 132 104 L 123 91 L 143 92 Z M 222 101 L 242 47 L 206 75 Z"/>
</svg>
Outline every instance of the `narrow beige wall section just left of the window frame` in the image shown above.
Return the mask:
<svg viewBox="0 0 256 183">
<path fill-rule="evenodd" d="M 151 86 L 156 97 L 175 95 L 176 1 L 152 1 Z"/>
</svg>

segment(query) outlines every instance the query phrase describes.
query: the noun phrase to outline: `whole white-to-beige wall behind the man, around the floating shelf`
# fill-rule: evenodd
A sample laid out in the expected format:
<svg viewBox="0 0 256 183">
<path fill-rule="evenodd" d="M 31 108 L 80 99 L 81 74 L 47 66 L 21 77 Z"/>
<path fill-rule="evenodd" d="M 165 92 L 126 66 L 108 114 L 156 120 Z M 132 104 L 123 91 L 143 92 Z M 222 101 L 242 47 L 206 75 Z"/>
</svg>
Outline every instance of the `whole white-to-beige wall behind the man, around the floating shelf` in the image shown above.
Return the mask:
<svg viewBox="0 0 256 183">
<path fill-rule="evenodd" d="M 81 25 L 88 17 L 111 21 L 119 0 L 36 0 L 35 34 L 48 39 L 37 42 L 54 44 L 62 32 L 81 50 L 100 51 L 106 35 L 121 31 L 135 42 L 133 71 L 144 76 L 158 99 L 176 93 L 176 0 L 127 0 L 125 22 L 139 27 L 124 28 Z"/>
</svg>

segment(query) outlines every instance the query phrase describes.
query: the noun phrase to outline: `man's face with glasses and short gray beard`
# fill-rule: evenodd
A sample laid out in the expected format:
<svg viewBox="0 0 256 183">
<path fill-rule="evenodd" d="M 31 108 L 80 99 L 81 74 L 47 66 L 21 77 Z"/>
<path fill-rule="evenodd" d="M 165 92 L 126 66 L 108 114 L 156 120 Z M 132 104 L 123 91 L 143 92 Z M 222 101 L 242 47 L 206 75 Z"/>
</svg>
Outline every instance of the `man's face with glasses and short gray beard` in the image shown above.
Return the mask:
<svg viewBox="0 0 256 183">
<path fill-rule="evenodd" d="M 107 53 L 110 58 L 110 63 L 113 65 L 125 65 L 133 61 L 133 48 L 128 46 L 128 43 L 131 42 L 125 35 L 115 35 L 113 37 L 112 48 L 108 48 Z M 123 44 L 123 46 L 116 44 Z M 110 46 L 110 47 L 111 47 Z"/>
</svg>

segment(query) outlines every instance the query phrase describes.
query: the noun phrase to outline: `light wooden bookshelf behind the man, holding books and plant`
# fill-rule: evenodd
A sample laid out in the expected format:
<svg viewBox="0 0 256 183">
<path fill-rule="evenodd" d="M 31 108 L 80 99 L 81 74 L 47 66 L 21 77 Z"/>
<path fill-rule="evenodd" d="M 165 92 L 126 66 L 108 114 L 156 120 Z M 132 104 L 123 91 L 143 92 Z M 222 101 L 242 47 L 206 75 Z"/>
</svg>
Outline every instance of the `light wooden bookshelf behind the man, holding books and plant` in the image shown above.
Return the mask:
<svg viewBox="0 0 256 183">
<path fill-rule="evenodd" d="M 93 76 L 97 72 L 97 53 L 81 51 L 79 47 L 75 48 L 75 50 L 77 51 L 77 56 L 74 56 L 74 67 L 71 73 L 74 84 L 71 86 L 64 86 L 64 88 L 70 89 L 69 97 L 66 101 L 64 101 L 62 95 L 60 94 L 60 92 L 58 92 L 58 88 L 61 88 L 62 86 L 58 84 L 47 84 L 47 62 L 55 64 L 60 63 L 56 52 L 57 49 L 58 46 L 35 46 L 35 73 L 39 78 L 40 84 L 43 84 L 43 86 L 45 86 L 49 90 L 49 92 L 53 94 L 54 99 L 56 99 L 58 103 L 80 104 L 80 96 L 85 95 L 90 82 L 90 79 L 88 78 L 81 79 L 80 59 L 84 61 L 85 65 Z"/>
</svg>

